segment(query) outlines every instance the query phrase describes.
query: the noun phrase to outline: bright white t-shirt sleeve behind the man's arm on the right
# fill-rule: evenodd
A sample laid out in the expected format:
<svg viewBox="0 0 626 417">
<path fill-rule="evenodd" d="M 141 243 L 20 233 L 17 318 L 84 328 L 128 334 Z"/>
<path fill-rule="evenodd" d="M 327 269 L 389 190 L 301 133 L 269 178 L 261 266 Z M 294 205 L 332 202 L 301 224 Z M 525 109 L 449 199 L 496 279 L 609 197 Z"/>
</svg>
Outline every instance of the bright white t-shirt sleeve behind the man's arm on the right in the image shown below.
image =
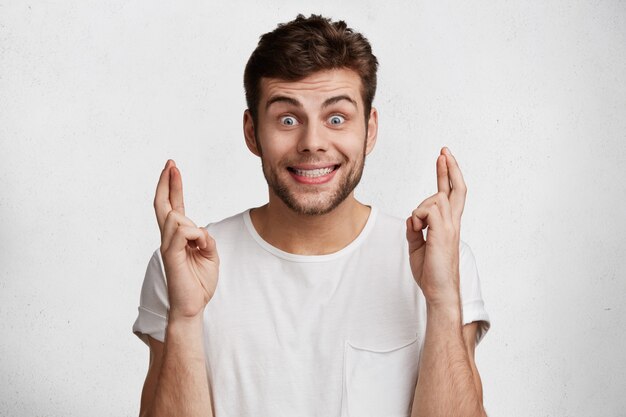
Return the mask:
<svg viewBox="0 0 626 417">
<path fill-rule="evenodd" d="M 476 344 L 478 344 L 489 330 L 491 322 L 480 291 L 480 279 L 478 278 L 474 253 L 469 245 L 463 241 L 460 245 L 459 273 L 463 324 L 479 322 L 478 333 L 476 334 Z"/>
</svg>

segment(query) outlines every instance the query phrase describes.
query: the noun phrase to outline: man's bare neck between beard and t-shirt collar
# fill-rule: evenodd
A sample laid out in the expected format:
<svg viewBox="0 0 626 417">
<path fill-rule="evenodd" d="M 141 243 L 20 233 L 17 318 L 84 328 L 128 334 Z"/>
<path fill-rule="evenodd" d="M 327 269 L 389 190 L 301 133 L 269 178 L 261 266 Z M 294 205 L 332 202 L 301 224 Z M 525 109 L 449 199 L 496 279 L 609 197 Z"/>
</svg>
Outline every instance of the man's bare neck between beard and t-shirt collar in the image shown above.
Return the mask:
<svg viewBox="0 0 626 417">
<path fill-rule="evenodd" d="M 327 255 L 345 248 L 361 233 L 370 208 L 350 194 L 333 211 L 323 215 L 295 213 L 282 201 L 270 202 L 250 212 L 257 233 L 270 245 L 297 255 Z"/>
</svg>

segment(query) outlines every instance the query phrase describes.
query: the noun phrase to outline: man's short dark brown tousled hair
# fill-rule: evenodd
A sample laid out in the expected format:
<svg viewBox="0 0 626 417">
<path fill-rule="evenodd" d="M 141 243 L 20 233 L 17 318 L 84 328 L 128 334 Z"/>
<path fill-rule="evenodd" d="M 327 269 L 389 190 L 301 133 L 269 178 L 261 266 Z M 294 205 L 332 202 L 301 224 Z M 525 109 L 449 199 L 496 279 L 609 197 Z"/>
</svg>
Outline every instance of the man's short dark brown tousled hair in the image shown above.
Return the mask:
<svg viewBox="0 0 626 417">
<path fill-rule="evenodd" d="M 368 40 L 346 22 L 319 15 L 299 14 L 262 35 L 244 71 L 246 102 L 256 123 L 261 78 L 297 81 L 318 71 L 348 68 L 361 78 L 365 119 L 369 119 L 376 93 L 378 60 Z"/>
</svg>

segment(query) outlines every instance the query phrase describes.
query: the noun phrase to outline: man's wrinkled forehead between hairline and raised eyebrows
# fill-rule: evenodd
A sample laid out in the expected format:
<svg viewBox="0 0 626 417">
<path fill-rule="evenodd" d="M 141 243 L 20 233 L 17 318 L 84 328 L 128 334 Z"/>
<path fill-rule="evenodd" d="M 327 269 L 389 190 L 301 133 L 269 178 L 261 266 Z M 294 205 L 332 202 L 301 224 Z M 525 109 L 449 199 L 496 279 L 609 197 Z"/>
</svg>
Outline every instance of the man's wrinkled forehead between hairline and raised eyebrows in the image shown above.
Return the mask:
<svg viewBox="0 0 626 417">
<path fill-rule="evenodd" d="M 298 81 L 278 78 L 261 79 L 261 108 L 276 96 L 287 96 L 298 101 L 324 101 L 325 99 L 347 95 L 361 106 L 361 78 L 350 69 L 319 71 Z"/>
</svg>

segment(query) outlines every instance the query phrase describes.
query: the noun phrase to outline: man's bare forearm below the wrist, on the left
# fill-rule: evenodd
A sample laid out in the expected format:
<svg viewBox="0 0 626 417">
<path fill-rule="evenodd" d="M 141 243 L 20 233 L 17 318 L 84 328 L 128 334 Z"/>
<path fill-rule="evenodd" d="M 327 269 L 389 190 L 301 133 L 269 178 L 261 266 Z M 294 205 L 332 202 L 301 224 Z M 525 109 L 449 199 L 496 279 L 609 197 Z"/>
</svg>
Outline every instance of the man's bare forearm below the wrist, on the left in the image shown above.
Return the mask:
<svg viewBox="0 0 626 417">
<path fill-rule="evenodd" d="M 149 417 L 211 417 L 202 321 L 170 321 Z"/>
</svg>

